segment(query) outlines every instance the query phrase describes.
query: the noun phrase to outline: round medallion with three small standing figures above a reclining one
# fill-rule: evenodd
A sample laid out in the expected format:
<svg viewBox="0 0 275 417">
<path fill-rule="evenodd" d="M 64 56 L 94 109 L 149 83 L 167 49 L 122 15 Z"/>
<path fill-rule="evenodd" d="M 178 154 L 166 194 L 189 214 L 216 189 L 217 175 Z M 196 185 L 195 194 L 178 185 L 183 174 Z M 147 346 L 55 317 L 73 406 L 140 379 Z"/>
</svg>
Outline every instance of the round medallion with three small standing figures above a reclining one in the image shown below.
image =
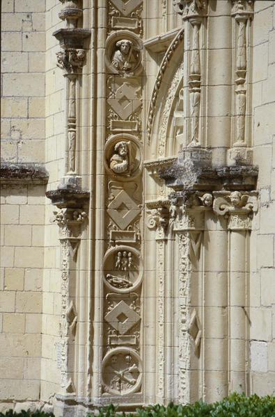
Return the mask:
<svg viewBox="0 0 275 417">
<path fill-rule="evenodd" d="M 103 262 L 104 282 L 112 291 L 129 293 L 141 283 L 143 265 L 139 251 L 133 247 L 111 248 Z"/>
</svg>

